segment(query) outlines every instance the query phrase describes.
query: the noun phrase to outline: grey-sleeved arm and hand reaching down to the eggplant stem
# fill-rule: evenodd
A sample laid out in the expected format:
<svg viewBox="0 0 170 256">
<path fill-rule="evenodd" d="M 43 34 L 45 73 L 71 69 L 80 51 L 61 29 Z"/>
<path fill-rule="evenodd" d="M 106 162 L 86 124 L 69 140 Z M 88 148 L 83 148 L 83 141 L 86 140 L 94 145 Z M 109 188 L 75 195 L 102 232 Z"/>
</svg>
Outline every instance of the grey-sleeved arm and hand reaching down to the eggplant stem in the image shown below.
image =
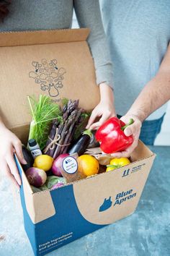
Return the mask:
<svg viewBox="0 0 170 256">
<path fill-rule="evenodd" d="M 88 38 L 89 48 L 94 59 L 97 85 L 100 90 L 100 102 L 92 112 L 88 127 L 97 129 L 104 121 L 115 115 L 113 96 L 113 67 L 109 54 L 109 46 L 102 25 L 99 1 L 75 0 L 74 8 L 80 27 L 89 27 L 91 32 Z M 96 117 L 99 122 L 92 125 Z"/>
</svg>

